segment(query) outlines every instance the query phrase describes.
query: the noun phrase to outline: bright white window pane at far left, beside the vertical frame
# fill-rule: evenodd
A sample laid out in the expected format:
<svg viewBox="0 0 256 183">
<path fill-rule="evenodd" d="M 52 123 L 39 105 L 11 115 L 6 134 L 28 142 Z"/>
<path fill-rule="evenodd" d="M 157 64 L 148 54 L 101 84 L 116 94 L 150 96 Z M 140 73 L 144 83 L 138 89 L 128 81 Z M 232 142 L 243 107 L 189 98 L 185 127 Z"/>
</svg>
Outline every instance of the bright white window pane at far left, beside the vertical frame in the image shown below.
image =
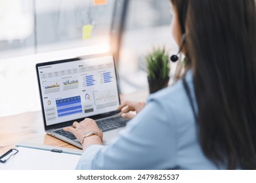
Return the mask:
<svg viewBox="0 0 256 183">
<path fill-rule="evenodd" d="M 33 54 L 33 1 L 0 2 L 0 58 Z"/>
</svg>

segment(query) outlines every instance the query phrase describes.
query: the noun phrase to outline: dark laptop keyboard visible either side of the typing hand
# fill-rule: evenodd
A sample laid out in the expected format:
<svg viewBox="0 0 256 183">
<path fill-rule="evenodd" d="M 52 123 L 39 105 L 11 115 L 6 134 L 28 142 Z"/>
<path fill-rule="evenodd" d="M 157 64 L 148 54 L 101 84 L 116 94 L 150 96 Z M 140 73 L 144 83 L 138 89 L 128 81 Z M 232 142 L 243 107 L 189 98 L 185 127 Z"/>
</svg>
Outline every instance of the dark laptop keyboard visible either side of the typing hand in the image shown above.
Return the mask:
<svg viewBox="0 0 256 183">
<path fill-rule="evenodd" d="M 128 121 L 129 121 L 128 119 L 125 119 L 121 116 L 117 116 L 114 118 L 98 120 L 98 121 L 96 121 L 96 124 L 104 132 L 104 131 L 110 131 L 112 129 L 116 129 L 119 127 L 125 127 L 125 125 Z M 63 129 L 58 129 L 54 132 L 66 137 L 68 139 L 71 139 L 71 140 L 76 139 L 76 137 L 73 135 L 73 133 L 70 133 L 69 131 L 64 131 Z"/>
</svg>

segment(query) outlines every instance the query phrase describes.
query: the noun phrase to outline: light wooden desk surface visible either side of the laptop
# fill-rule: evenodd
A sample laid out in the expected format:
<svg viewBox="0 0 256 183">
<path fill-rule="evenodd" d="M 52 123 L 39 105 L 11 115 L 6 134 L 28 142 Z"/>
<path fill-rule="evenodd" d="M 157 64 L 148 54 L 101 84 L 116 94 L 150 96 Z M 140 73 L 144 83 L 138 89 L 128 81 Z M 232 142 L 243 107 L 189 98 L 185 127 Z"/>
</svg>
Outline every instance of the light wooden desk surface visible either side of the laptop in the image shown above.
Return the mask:
<svg viewBox="0 0 256 183">
<path fill-rule="evenodd" d="M 144 91 L 121 96 L 121 101 L 146 101 L 147 97 Z M 19 142 L 76 148 L 45 133 L 41 110 L 0 118 L 0 156 Z"/>
</svg>

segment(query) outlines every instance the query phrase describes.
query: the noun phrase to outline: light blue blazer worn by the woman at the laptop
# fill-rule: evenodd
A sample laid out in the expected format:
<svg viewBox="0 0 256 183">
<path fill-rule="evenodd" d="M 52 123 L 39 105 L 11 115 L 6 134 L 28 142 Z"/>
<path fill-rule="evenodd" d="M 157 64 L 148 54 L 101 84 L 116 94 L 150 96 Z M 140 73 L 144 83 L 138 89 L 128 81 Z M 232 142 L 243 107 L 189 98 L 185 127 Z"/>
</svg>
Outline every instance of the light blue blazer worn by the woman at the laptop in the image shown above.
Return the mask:
<svg viewBox="0 0 256 183">
<path fill-rule="evenodd" d="M 192 78 L 189 70 L 185 79 L 196 106 Z M 77 169 L 217 168 L 202 152 L 182 81 L 150 95 L 112 144 L 89 146 L 77 164 Z"/>
</svg>

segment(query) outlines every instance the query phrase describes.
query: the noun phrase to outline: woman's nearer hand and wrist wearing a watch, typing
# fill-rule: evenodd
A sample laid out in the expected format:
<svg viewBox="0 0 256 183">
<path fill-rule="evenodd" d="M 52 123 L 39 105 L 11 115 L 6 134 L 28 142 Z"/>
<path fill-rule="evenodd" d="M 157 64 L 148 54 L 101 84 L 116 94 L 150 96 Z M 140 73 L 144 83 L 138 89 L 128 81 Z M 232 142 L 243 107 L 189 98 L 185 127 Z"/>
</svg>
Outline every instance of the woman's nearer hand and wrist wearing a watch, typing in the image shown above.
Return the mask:
<svg viewBox="0 0 256 183">
<path fill-rule="evenodd" d="M 100 137 L 103 137 L 103 132 L 98 128 L 95 120 L 90 118 L 85 118 L 85 120 L 80 123 L 74 122 L 73 126 L 64 127 L 63 130 L 73 133 L 79 142 L 83 141 L 83 150 L 85 150 L 85 148 L 91 144 L 102 144 Z M 98 132 L 100 137 L 98 137 L 98 135 L 92 135 L 83 140 L 83 135 L 89 131 Z"/>
</svg>

